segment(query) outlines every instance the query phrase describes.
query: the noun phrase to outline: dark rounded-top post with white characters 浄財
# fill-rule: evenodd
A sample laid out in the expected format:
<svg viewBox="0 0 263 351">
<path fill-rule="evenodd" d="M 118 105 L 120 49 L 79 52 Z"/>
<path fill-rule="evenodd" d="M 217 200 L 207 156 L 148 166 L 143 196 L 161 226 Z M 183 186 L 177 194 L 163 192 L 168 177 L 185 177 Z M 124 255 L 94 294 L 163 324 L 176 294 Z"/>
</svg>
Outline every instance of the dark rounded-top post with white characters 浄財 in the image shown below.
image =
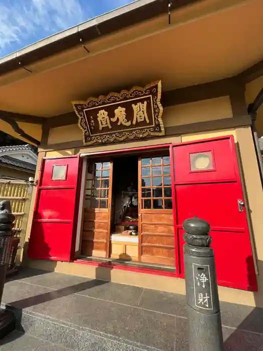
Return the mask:
<svg viewBox="0 0 263 351">
<path fill-rule="evenodd" d="M 184 272 L 189 351 L 223 351 L 221 314 L 209 223 L 197 217 L 183 222 Z"/>
</svg>

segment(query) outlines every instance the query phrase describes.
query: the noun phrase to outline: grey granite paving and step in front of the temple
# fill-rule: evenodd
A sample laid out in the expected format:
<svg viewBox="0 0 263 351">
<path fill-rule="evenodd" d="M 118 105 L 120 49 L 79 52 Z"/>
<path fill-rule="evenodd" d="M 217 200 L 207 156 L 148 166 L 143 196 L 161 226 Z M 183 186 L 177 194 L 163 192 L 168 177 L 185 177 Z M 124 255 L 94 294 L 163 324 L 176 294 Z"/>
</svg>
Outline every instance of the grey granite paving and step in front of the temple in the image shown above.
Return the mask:
<svg viewBox="0 0 263 351">
<path fill-rule="evenodd" d="M 8 279 L 2 302 L 20 331 L 1 351 L 188 351 L 184 295 L 25 268 Z M 225 351 L 262 351 L 263 310 L 220 307 Z"/>
</svg>

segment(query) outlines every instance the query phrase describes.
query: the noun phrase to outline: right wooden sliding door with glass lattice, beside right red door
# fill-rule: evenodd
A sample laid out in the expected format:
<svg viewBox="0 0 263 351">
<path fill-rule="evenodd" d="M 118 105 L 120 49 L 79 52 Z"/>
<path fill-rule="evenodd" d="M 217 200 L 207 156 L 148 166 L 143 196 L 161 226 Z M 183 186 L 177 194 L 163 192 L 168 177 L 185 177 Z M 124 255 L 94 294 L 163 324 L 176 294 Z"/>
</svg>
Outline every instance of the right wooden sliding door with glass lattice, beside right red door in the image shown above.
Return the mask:
<svg viewBox="0 0 263 351">
<path fill-rule="evenodd" d="M 139 260 L 145 263 L 175 266 L 170 175 L 169 156 L 139 160 Z"/>
</svg>

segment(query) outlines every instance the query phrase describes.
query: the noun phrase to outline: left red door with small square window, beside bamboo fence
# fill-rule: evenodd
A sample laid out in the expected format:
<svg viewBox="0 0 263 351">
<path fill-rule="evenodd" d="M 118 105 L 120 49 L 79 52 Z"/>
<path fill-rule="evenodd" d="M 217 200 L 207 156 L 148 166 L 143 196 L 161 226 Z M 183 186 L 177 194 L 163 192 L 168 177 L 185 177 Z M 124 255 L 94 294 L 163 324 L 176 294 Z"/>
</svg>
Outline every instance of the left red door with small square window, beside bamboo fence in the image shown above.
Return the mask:
<svg viewBox="0 0 263 351">
<path fill-rule="evenodd" d="M 70 261 L 76 231 L 79 156 L 43 159 L 28 256 Z"/>
</svg>

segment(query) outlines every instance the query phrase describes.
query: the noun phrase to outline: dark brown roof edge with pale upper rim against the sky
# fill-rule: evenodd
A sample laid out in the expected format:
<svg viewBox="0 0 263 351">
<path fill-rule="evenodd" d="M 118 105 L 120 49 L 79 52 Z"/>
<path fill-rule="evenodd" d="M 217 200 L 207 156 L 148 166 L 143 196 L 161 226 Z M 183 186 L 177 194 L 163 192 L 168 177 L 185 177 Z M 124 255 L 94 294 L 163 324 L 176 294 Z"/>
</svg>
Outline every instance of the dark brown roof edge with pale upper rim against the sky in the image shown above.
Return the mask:
<svg viewBox="0 0 263 351">
<path fill-rule="evenodd" d="M 171 10 L 197 3 L 200 0 L 177 0 Z M 95 40 L 142 21 L 167 13 L 167 0 L 137 0 L 129 5 L 96 17 L 66 31 L 43 39 L 22 50 L 0 59 L 0 76 L 64 50 L 80 46 L 81 42 Z"/>
</svg>

